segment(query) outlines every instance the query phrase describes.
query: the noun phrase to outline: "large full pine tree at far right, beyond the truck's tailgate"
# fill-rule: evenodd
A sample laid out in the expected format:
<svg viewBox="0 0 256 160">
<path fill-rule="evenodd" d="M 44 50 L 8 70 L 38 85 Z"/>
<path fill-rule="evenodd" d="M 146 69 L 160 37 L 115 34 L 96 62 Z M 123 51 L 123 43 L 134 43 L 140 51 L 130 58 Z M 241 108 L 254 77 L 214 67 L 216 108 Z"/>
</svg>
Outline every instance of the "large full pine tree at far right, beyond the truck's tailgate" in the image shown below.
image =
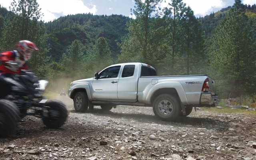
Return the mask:
<svg viewBox="0 0 256 160">
<path fill-rule="evenodd" d="M 241 0 L 235 0 L 228 15 L 214 35 L 210 64 L 218 89 L 227 96 L 240 96 L 256 91 L 255 38 Z"/>
</svg>

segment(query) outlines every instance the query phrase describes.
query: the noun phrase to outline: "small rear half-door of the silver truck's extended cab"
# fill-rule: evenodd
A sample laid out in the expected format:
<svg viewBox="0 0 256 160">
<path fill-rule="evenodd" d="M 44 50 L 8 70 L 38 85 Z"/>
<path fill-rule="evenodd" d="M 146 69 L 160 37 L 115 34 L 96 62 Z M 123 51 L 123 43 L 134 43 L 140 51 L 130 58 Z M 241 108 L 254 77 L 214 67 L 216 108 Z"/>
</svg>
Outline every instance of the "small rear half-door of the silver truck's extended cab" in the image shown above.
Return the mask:
<svg viewBox="0 0 256 160">
<path fill-rule="evenodd" d="M 136 101 L 138 89 L 138 70 L 139 65 L 124 65 L 117 86 L 118 100 L 132 102 Z"/>
</svg>

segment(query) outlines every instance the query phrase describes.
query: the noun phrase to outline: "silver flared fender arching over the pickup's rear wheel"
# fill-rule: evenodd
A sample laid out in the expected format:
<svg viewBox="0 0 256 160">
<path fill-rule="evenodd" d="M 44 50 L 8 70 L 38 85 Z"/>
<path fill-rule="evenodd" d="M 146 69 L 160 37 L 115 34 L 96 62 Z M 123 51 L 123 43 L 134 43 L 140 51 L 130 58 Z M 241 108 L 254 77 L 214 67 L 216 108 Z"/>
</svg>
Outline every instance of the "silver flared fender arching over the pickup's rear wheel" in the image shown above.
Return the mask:
<svg viewBox="0 0 256 160">
<path fill-rule="evenodd" d="M 146 96 L 146 102 L 150 102 L 151 98 L 153 97 L 154 93 L 157 90 L 164 89 L 164 88 L 174 88 L 177 91 L 182 104 L 188 105 L 188 99 L 186 97 L 186 93 L 184 91 L 184 88 L 182 87 L 182 85 L 179 82 L 159 82 L 159 83 L 155 84 L 148 91 L 148 94 Z"/>
</svg>

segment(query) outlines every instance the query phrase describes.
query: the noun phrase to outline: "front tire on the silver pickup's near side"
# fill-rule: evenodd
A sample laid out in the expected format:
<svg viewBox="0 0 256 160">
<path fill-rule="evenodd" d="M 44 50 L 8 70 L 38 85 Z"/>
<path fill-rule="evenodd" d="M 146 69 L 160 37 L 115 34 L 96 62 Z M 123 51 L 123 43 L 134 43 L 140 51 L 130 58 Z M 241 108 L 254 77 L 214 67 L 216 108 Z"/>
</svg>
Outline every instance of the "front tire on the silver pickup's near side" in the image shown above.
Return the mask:
<svg viewBox="0 0 256 160">
<path fill-rule="evenodd" d="M 85 112 L 88 109 L 88 97 L 85 92 L 77 92 L 73 101 L 76 112 Z"/>
</svg>

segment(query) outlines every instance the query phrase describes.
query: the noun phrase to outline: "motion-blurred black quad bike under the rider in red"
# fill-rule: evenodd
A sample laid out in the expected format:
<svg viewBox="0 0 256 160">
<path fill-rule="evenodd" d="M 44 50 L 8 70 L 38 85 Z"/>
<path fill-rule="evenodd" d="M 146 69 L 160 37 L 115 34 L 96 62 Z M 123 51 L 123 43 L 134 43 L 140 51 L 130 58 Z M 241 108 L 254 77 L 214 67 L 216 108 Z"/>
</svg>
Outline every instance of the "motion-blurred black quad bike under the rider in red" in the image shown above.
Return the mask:
<svg viewBox="0 0 256 160">
<path fill-rule="evenodd" d="M 18 120 L 28 115 L 42 118 L 48 128 L 64 124 L 68 117 L 65 105 L 42 96 L 47 84 L 26 70 L 12 78 L 0 77 L 0 137 L 13 134 Z"/>
</svg>

